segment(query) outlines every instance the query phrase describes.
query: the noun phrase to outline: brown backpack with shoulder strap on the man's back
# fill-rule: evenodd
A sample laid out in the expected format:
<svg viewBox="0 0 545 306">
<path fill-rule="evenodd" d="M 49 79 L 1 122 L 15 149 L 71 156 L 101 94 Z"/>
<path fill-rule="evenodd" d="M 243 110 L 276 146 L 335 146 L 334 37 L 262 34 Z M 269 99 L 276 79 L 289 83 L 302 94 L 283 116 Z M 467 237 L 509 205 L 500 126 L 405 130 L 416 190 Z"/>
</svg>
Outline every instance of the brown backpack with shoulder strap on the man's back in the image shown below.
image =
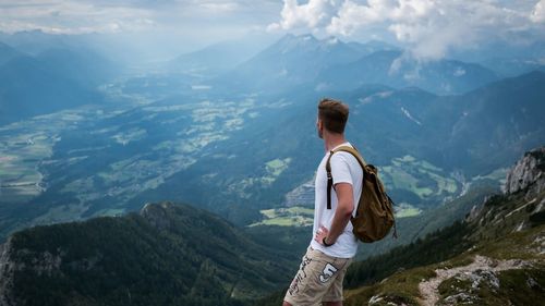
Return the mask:
<svg viewBox="0 0 545 306">
<path fill-rule="evenodd" d="M 393 201 L 386 194 L 378 170 L 373 164 L 366 164 L 360 152 L 352 147 L 342 146 L 331 151 L 326 162 L 327 172 L 327 209 L 331 209 L 331 176 L 330 159 L 334 154 L 346 151 L 355 157 L 363 169 L 362 194 L 355 217 L 351 218 L 353 233 L 360 241 L 372 243 L 384 238 L 393 227 L 393 237 L 397 237 L 396 220 L 393 218 Z"/>
</svg>

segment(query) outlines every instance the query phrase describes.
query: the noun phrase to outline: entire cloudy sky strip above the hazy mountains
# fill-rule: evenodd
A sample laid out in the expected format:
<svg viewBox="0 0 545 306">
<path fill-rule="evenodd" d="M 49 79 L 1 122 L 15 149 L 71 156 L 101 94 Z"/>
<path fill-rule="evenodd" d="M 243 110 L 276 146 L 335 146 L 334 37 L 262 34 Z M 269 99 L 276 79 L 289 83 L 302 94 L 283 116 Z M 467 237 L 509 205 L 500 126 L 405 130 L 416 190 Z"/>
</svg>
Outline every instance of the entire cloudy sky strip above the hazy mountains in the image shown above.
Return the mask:
<svg viewBox="0 0 545 306">
<path fill-rule="evenodd" d="M 128 35 L 195 49 L 249 35 L 379 39 L 440 59 L 480 44 L 545 41 L 545 0 L 0 0 L 0 30 Z"/>
</svg>

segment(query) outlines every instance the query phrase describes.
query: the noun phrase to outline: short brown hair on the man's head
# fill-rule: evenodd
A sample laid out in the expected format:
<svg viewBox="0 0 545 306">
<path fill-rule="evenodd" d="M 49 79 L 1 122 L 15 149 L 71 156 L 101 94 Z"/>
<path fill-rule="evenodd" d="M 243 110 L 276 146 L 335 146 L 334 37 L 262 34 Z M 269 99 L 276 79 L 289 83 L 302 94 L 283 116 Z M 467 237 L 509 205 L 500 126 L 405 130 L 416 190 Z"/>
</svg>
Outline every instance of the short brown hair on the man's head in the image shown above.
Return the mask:
<svg viewBox="0 0 545 306">
<path fill-rule="evenodd" d="M 348 106 L 339 100 L 324 98 L 318 103 L 318 118 L 324 122 L 324 127 L 329 132 L 344 133 L 348 114 Z"/>
</svg>

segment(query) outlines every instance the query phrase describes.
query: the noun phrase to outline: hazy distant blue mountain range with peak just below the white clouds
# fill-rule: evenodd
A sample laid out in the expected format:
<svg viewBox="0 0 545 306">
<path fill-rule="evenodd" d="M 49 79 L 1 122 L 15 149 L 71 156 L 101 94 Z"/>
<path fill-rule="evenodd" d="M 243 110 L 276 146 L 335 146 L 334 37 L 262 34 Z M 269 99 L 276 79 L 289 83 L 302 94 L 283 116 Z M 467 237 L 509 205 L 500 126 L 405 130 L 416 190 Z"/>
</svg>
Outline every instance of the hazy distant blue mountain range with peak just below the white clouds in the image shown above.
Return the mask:
<svg viewBox="0 0 545 306">
<path fill-rule="evenodd" d="M 385 44 L 287 35 L 213 83 L 245 90 L 305 84 L 323 93 L 383 84 L 395 88 L 417 86 L 445 95 L 467 93 L 497 79 L 494 71 L 479 63 L 421 61 Z"/>
</svg>

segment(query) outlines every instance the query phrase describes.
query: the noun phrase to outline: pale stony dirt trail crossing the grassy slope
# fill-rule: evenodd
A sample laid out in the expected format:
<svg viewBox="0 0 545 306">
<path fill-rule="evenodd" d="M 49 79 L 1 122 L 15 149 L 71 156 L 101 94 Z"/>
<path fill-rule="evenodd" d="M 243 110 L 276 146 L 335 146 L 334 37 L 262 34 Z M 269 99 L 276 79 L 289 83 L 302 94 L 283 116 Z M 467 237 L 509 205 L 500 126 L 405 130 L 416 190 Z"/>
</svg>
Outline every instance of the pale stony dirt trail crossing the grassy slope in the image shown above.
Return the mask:
<svg viewBox="0 0 545 306">
<path fill-rule="evenodd" d="M 474 261 L 468 266 L 456 267 L 452 269 L 437 269 L 437 277 L 423 281 L 419 284 L 421 303 L 423 306 L 434 306 L 439 301 L 438 287 L 445 280 L 459 274 L 471 274 L 477 270 L 486 270 L 491 272 L 499 272 L 511 269 L 522 269 L 530 266 L 530 262 L 520 259 L 495 260 L 485 256 L 477 255 Z"/>
</svg>

